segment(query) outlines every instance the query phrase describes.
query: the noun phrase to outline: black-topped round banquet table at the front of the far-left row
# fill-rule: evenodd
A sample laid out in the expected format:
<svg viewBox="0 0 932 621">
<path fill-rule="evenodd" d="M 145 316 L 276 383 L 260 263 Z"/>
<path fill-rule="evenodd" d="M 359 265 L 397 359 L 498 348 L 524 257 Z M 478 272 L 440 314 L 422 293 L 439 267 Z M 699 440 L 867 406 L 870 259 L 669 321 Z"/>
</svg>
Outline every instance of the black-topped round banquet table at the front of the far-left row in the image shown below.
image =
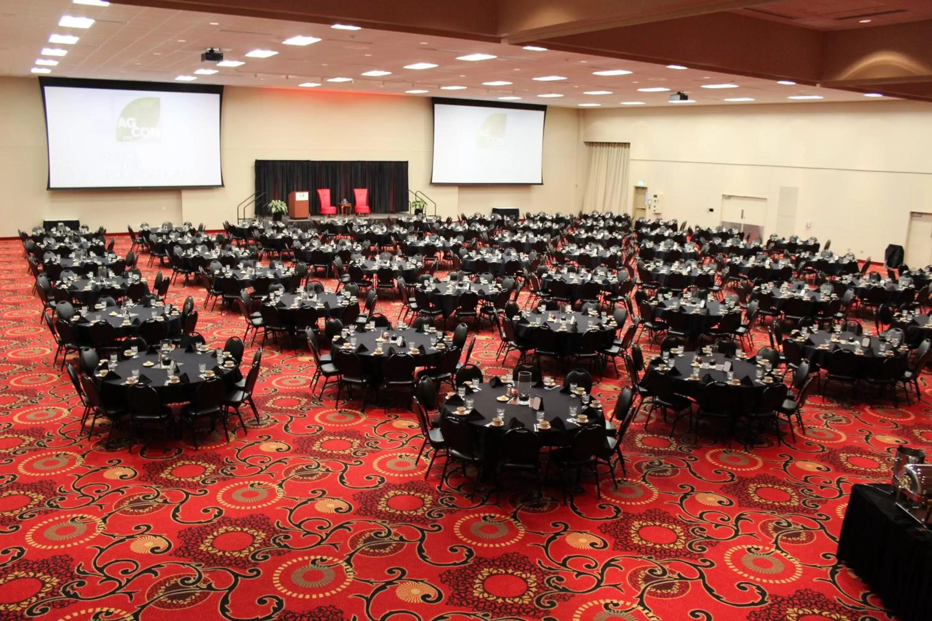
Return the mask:
<svg viewBox="0 0 932 621">
<path fill-rule="evenodd" d="M 208 370 L 217 374 L 227 388 L 230 388 L 239 377 L 239 369 L 234 363 L 231 367 L 220 366 L 216 364 L 216 355 L 214 350 L 210 349 L 206 353 L 187 352 L 182 349 L 172 349 L 169 357 L 178 364 L 178 375 L 182 381 L 177 384 L 168 383 L 168 370 L 160 369 L 158 359 L 160 354 L 139 354 L 135 358 L 126 358 L 117 362 L 118 378 L 113 377 L 112 373 L 107 373 L 101 377 L 95 372 L 95 377 L 101 383 L 101 398 L 107 403 L 121 404 L 125 402 L 125 391 L 130 387 L 126 384 L 126 379 L 132 375 L 133 369 L 139 369 L 139 376 L 144 384 L 151 385 L 158 393 L 160 403 L 181 403 L 190 401 L 194 398 L 198 386 L 204 381 L 199 375 L 198 365 L 207 365 Z M 232 358 L 227 358 L 232 360 Z M 152 362 L 153 366 L 145 367 L 145 362 Z M 106 360 L 101 361 L 101 368 L 105 368 Z M 185 381 L 184 375 L 187 375 Z"/>
</svg>

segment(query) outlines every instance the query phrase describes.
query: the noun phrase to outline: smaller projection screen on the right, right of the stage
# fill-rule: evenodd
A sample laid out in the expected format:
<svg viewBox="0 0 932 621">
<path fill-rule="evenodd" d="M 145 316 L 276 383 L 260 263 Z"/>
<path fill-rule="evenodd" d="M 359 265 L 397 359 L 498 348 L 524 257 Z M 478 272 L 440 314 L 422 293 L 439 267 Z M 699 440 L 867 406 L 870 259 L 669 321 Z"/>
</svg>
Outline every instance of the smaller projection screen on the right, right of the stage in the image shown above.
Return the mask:
<svg viewBox="0 0 932 621">
<path fill-rule="evenodd" d="M 432 183 L 542 183 L 547 107 L 433 100 Z"/>
</svg>

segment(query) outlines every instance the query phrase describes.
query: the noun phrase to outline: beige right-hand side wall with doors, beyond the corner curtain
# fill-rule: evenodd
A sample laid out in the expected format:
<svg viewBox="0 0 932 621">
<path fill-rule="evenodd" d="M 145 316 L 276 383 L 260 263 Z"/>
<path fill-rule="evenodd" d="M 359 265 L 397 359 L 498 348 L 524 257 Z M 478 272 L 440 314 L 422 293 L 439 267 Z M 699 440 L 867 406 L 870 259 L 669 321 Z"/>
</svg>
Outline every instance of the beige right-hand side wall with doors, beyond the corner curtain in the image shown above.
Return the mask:
<svg viewBox="0 0 932 621">
<path fill-rule="evenodd" d="M 883 261 L 911 211 L 932 211 L 932 106 L 907 101 L 587 110 L 583 140 L 631 143 L 632 184 L 664 216 L 721 222 L 722 195 L 768 201 L 799 188 L 794 230 Z M 709 211 L 711 209 L 711 211 Z M 811 221 L 811 227 L 806 223 Z"/>
</svg>

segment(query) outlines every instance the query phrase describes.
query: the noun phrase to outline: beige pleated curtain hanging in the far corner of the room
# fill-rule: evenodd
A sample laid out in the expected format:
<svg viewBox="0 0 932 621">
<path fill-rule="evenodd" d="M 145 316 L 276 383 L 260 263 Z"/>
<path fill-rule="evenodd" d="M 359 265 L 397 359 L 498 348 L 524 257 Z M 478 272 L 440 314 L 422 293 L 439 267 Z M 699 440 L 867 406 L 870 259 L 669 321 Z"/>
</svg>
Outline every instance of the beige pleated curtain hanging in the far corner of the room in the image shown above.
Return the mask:
<svg viewBox="0 0 932 621">
<path fill-rule="evenodd" d="M 628 209 L 628 158 L 631 145 L 627 142 L 586 142 L 588 169 L 586 173 L 583 211 Z"/>
</svg>

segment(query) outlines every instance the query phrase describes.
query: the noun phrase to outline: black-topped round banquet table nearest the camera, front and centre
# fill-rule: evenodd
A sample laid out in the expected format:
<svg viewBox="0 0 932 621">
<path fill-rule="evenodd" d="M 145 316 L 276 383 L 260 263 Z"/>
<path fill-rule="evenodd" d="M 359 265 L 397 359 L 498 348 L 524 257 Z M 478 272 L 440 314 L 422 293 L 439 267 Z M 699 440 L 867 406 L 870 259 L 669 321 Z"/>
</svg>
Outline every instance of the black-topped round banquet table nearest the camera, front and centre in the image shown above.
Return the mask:
<svg viewBox="0 0 932 621">
<path fill-rule="evenodd" d="M 537 415 L 529 405 L 518 405 L 514 398 L 507 402 L 500 401 L 499 398 L 505 396 L 509 388 L 514 385 L 490 385 L 483 383 L 478 385 L 478 390 L 471 391 L 467 388 L 467 398 L 473 399 L 473 413 L 465 415 L 466 421 L 476 428 L 479 432 L 479 441 L 485 442 L 485 453 L 492 453 L 497 456 L 498 451 L 491 451 L 487 443 L 489 441 L 500 440 L 511 425 L 516 425 L 513 421 L 518 421 L 528 429 L 537 431 L 541 437 L 541 444 L 544 446 L 560 446 L 569 441 L 569 434 L 584 425 L 577 425 L 569 418 L 569 408 L 575 407 L 578 412 L 583 412 L 583 403 L 578 395 L 570 395 L 569 388 L 561 385 L 555 385 L 553 388 L 544 388 L 543 385 L 531 386 L 530 398 L 533 401 L 535 397 L 541 398 L 541 406 L 545 413 L 545 420 L 551 422 L 549 429 L 537 428 Z M 461 405 L 459 396 L 448 397 L 444 403 L 442 414 L 451 418 L 458 418 L 457 408 Z M 589 420 L 585 425 L 594 423 L 603 423 L 602 405 L 597 401 L 590 401 L 589 409 L 586 414 Z M 502 416 L 504 425 L 491 425 L 492 419 L 496 417 L 497 411 L 505 411 Z M 554 426 L 553 421 L 560 419 L 563 422 L 563 429 Z"/>
</svg>

